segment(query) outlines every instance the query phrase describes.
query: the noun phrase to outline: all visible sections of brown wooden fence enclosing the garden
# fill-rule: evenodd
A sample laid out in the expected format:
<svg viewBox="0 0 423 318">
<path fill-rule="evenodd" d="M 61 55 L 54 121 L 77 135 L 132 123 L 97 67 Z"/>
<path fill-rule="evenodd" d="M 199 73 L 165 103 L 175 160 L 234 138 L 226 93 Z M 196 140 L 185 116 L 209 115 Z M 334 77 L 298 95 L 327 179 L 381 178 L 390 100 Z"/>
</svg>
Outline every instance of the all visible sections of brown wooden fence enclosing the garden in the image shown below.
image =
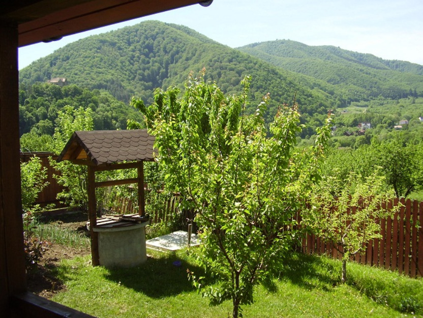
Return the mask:
<svg viewBox="0 0 423 318">
<path fill-rule="evenodd" d="M 57 200 L 56 195 L 63 190 L 53 176 L 53 168 L 48 157 L 51 153 L 21 153 L 21 161 L 26 162 L 36 155 L 47 168 L 49 185 L 39 194 L 37 202 L 41 206 L 55 204 L 57 208 L 63 205 Z M 193 211 L 179 211 L 177 196 L 167 198 L 156 211 L 150 212 L 152 223 L 170 222 L 178 218 L 181 229 L 188 228 L 188 223 L 194 219 Z M 352 260 L 369 266 L 377 266 L 392 271 L 398 271 L 411 277 L 423 276 L 423 202 L 401 199 L 402 207 L 394 217 L 380 220 L 381 239 L 367 243 L 364 251 L 357 253 Z M 148 204 L 148 203 L 147 203 Z M 392 203 L 398 205 L 398 199 Z M 117 198 L 113 208 L 118 213 L 137 213 L 130 200 Z M 194 224 L 193 230 L 196 230 Z M 327 254 L 341 258 L 341 253 L 330 242 L 307 235 L 303 240 L 301 249 L 308 254 Z"/>
</svg>

